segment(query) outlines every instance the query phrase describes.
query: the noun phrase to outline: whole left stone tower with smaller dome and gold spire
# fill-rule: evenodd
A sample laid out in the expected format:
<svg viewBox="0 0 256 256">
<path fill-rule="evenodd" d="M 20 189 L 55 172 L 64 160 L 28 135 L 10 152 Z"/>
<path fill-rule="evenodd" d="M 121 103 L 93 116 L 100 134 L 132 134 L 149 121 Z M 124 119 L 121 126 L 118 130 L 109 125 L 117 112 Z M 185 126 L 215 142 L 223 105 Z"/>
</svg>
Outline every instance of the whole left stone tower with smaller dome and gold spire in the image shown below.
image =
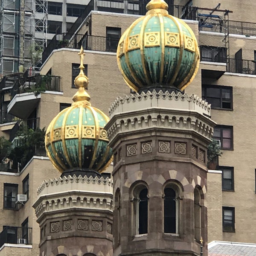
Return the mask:
<svg viewBox="0 0 256 256">
<path fill-rule="evenodd" d="M 52 120 L 45 145 L 62 173 L 44 181 L 34 204 L 41 228 L 40 256 L 112 256 L 113 182 L 103 171 L 112 162 L 104 126 L 108 117 L 84 90 L 84 51 L 73 104 Z"/>
</svg>

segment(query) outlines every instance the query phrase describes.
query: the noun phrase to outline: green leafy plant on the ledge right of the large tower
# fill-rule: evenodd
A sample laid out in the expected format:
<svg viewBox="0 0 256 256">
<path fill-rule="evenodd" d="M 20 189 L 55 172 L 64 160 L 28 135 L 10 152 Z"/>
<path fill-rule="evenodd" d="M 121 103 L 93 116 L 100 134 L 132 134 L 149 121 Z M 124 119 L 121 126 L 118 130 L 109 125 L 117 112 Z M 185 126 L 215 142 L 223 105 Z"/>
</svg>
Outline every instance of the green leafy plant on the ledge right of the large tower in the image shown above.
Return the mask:
<svg viewBox="0 0 256 256">
<path fill-rule="evenodd" d="M 212 140 L 207 148 L 207 167 L 208 169 L 216 170 L 218 166 L 218 157 L 222 155 L 221 146 L 217 140 Z"/>
</svg>

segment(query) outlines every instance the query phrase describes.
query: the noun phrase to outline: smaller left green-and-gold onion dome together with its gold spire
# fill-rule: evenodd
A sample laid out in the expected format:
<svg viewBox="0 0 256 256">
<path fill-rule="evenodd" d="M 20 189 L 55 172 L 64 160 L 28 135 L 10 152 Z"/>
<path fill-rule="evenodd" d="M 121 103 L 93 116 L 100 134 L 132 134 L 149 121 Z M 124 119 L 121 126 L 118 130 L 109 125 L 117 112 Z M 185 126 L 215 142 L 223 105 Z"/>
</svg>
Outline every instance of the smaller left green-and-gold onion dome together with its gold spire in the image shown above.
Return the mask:
<svg viewBox="0 0 256 256">
<path fill-rule="evenodd" d="M 73 96 L 71 107 L 58 113 L 49 124 L 45 146 L 49 159 L 61 173 L 101 173 L 112 161 L 112 149 L 104 129 L 109 118 L 89 102 L 90 96 L 84 90 L 89 81 L 84 75 L 82 47 L 79 55 L 80 73 L 74 81 L 78 92 Z"/>
</svg>

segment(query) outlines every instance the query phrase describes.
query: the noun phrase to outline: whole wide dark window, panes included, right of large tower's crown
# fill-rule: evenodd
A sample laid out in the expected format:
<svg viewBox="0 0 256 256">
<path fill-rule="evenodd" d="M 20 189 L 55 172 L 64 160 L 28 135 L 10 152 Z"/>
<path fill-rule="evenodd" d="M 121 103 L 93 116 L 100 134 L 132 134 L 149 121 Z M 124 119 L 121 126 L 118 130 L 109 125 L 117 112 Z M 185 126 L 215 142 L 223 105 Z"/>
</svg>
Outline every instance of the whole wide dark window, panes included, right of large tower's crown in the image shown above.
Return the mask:
<svg viewBox="0 0 256 256">
<path fill-rule="evenodd" d="M 212 109 L 233 109 L 233 87 L 202 86 L 202 98 L 211 104 Z"/>
</svg>

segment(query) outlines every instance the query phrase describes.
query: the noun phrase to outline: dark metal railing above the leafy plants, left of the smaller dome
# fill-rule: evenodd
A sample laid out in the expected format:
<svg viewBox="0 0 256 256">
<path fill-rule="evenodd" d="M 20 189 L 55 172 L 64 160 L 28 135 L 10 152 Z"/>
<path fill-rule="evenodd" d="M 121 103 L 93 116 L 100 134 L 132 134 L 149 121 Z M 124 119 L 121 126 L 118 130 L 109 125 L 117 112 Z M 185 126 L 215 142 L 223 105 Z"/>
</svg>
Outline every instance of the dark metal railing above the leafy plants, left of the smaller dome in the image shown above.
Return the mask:
<svg viewBox="0 0 256 256">
<path fill-rule="evenodd" d="M 16 137 L 18 131 L 25 131 L 27 129 L 32 129 L 35 131 L 35 129 L 39 127 L 39 122 L 39 117 L 17 121 L 10 131 L 9 140 L 12 141 Z"/>
</svg>

